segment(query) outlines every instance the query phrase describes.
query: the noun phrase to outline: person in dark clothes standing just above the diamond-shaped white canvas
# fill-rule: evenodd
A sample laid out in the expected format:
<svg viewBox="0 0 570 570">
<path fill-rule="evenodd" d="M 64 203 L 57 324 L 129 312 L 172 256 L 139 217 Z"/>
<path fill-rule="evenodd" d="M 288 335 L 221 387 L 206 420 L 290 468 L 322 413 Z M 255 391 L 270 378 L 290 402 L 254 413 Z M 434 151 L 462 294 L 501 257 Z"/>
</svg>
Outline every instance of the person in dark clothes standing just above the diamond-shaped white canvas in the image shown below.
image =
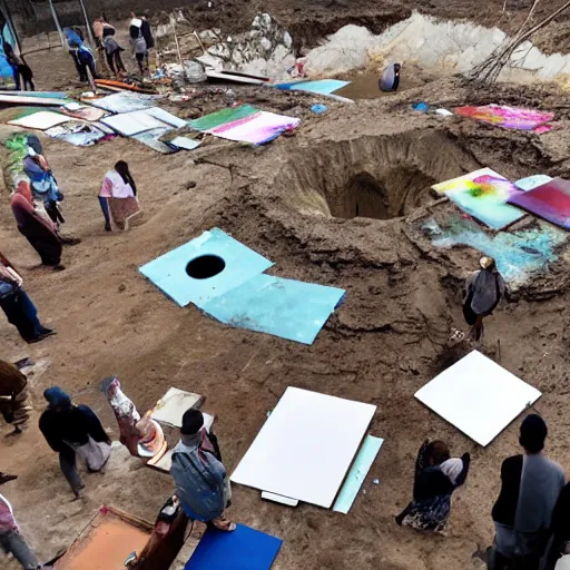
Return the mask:
<svg viewBox="0 0 570 570">
<path fill-rule="evenodd" d="M 481 269 L 473 272 L 465 281 L 463 302 L 463 316 L 471 326 L 471 338 L 478 342 L 483 337 L 483 318 L 493 313 L 503 296 L 509 301 L 509 292 L 494 259 L 483 256 L 479 265 Z"/>
</svg>

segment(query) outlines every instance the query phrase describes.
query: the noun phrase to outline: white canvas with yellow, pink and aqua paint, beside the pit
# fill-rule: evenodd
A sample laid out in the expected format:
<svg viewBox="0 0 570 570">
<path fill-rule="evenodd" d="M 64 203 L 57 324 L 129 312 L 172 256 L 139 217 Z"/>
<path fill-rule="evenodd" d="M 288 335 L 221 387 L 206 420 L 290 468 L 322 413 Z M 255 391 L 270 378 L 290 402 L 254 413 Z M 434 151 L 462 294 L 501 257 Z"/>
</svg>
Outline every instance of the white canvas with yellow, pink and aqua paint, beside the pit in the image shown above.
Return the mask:
<svg viewBox="0 0 570 570">
<path fill-rule="evenodd" d="M 432 188 L 445 194 L 459 208 L 492 229 L 502 229 L 524 216 L 524 212 L 507 204 L 511 196 L 521 190 L 490 168 L 436 184 Z"/>
</svg>

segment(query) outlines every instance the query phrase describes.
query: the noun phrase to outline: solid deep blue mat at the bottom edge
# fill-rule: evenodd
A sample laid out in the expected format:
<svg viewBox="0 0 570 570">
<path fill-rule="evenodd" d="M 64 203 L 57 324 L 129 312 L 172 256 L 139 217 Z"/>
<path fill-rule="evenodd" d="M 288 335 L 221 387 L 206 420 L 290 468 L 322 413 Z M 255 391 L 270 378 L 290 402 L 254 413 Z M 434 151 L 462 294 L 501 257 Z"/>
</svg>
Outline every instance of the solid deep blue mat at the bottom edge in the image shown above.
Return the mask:
<svg viewBox="0 0 570 570">
<path fill-rule="evenodd" d="M 234 532 L 208 529 L 185 570 L 269 570 L 282 543 L 243 524 Z"/>
</svg>

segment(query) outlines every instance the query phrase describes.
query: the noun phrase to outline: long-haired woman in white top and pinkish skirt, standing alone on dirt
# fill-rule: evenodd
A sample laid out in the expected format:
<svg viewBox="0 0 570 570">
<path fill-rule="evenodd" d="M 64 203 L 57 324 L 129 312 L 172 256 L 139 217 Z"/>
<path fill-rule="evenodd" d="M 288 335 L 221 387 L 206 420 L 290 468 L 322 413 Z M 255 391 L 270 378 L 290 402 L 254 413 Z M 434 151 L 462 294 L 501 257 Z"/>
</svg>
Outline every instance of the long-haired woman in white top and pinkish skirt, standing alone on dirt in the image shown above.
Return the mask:
<svg viewBox="0 0 570 570">
<path fill-rule="evenodd" d="M 119 160 L 102 180 L 99 204 L 105 216 L 105 229 L 111 230 L 111 219 L 119 229 L 128 229 L 129 220 L 141 209 L 137 198 L 137 185 L 129 171 L 129 165 Z"/>
</svg>

